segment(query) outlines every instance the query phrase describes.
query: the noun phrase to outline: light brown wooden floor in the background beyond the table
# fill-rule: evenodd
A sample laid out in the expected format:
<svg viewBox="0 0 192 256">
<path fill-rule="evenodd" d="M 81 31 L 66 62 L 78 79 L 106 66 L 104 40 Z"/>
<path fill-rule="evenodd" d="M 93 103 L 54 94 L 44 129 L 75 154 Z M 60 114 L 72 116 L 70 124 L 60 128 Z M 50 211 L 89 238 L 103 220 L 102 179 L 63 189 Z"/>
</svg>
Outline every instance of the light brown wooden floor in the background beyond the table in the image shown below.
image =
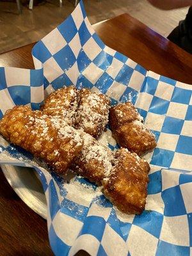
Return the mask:
<svg viewBox="0 0 192 256">
<path fill-rule="evenodd" d="M 63 0 L 61 5 L 60 1 L 0 0 L 0 53 L 36 42 L 58 26 L 76 4 Z M 92 24 L 129 13 L 165 37 L 188 10 L 158 10 L 146 0 L 84 0 L 84 5 Z"/>
</svg>

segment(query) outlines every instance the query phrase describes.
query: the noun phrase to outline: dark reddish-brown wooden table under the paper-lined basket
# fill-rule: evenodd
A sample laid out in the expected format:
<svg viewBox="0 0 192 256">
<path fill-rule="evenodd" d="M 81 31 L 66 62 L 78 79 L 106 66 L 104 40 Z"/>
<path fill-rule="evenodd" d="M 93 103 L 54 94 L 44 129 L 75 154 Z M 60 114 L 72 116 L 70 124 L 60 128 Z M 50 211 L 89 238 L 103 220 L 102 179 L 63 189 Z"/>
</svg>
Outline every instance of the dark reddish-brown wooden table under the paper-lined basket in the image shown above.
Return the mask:
<svg viewBox="0 0 192 256">
<path fill-rule="evenodd" d="M 192 56 L 128 14 L 94 25 L 109 47 L 148 70 L 192 84 Z M 26 45 L 0 55 L 0 66 L 33 68 Z M 47 223 L 13 192 L 0 172 L 0 255 L 52 255 Z"/>
</svg>

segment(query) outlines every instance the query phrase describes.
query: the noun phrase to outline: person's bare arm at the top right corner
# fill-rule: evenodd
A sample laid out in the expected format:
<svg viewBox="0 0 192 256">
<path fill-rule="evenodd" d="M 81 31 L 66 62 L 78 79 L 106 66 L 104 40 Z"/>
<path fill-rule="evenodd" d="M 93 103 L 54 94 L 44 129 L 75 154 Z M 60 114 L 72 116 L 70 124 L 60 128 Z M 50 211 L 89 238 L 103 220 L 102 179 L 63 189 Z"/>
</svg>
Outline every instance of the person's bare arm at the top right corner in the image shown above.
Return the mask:
<svg viewBox="0 0 192 256">
<path fill-rule="evenodd" d="M 192 5 L 192 0 L 147 0 L 152 5 L 162 10 L 172 10 Z"/>
</svg>

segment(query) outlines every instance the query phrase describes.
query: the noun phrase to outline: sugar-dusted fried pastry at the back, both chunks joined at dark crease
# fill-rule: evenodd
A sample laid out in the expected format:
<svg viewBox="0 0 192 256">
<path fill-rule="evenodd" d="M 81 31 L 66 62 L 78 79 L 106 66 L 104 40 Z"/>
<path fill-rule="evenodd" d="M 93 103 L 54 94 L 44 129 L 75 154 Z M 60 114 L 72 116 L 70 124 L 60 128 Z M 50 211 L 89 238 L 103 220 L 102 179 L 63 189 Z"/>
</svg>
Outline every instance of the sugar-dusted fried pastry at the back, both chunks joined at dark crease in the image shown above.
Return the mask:
<svg viewBox="0 0 192 256">
<path fill-rule="evenodd" d="M 109 105 L 106 95 L 68 86 L 52 92 L 41 110 L 45 115 L 63 118 L 67 124 L 98 138 L 108 123 Z"/>
</svg>

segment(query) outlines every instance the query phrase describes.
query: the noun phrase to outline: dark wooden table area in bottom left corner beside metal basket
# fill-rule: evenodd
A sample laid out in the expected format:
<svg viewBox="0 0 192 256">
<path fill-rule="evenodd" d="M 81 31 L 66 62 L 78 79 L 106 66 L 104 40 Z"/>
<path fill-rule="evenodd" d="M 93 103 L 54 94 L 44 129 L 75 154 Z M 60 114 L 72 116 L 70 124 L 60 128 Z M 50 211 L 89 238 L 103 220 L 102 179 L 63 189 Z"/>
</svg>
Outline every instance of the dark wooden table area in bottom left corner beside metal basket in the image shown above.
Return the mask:
<svg viewBox="0 0 192 256">
<path fill-rule="evenodd" d="M 53 255 L 47 223 L 20 200 L 0 172 L 0 255 Z"/>
</svg>

